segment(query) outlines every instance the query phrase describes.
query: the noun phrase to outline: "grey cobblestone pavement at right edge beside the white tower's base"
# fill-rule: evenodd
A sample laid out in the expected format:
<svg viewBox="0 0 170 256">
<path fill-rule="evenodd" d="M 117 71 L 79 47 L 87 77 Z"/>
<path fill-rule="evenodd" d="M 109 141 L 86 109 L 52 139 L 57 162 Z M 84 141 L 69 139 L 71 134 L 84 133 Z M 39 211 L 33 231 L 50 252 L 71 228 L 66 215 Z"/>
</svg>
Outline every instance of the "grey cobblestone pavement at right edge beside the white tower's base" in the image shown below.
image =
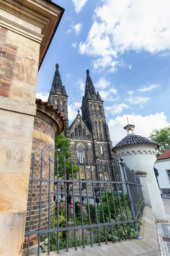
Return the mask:
<svg viewBox="0 0 170 256">
<path fill-rule="evenodd" d="M 170 218 L 170 198 L 162 198 L 167 217 Z M 170 256 L 170 223 L 156 224 L 161 256 Z"/>
</svg>

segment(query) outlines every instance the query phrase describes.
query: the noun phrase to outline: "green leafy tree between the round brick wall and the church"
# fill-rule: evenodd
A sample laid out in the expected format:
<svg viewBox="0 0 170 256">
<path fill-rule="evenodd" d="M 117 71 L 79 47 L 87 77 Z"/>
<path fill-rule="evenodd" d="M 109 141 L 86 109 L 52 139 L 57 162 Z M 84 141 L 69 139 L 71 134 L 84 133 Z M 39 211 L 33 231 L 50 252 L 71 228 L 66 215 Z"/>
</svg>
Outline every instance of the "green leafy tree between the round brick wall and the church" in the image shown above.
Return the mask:
<svg viewBox="0 0 170 256">
<path fill-rule="evenodd" d="M 71 175 L 71 152 L 69 151 L 70 139 L 66 138 L 63 134 L 59 134 L 55 138 L 55 165 L 54 175 L 57 175 L 57 155 L 58 155 L 58 174 L 59 177 L 64 177 L 64 156 L 65 156 L 65 169 L 66 174 Z M 73 164 L 74 177 L 77 176 L 78 167 Z"/>
</svg>

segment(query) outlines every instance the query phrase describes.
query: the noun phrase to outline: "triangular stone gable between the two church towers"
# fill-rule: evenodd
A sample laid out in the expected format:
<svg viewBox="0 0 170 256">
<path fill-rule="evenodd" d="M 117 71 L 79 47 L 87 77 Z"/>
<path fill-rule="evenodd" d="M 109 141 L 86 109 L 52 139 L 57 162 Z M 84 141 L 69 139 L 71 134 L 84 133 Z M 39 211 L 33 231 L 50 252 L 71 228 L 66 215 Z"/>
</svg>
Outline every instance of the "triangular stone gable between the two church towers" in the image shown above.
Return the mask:
<svg viewBox="0 0 170 256">
<path fill-rule="evenodd" d="M 69 129 L 70 138 L 72 139 L 92 140 L 92 134 L 89 131 L 87 125 L 85 125 L 85 122 L 82 120 L 79 112 L 76 116 L 76 119 L 70 125 Z"/>
</svg>

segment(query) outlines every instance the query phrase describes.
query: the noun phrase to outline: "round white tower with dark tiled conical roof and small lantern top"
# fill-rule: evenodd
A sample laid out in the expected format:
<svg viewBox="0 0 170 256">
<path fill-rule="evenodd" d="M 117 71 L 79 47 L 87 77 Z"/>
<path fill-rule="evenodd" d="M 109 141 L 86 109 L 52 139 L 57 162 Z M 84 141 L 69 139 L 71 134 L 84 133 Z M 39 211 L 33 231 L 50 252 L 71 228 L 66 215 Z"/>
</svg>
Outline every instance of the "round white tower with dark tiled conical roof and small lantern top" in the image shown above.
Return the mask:
<svg viewBox="0 0 170 256">
<path fill-rule="evenodd" d="M 134 134 L 135 125 L 126 125 L 124 129 L 127 136 L 123 138 L 112 149 L 120 158 L 124 158 L 126 165 L 134 171 L 146 173 L 146 185 L 143 186 L 143 194 L 149 194 L 150 203 L 153 208 L 153 214 L 156 221 L 167 222 L 167 215 L 159 192 L 159 186 L 156 180 L 153 166 L 156 161 L 155 151 L 159 145 L 145 137 Z M 147 189 L 147 191 L 144 191 Z"/>
</svg>

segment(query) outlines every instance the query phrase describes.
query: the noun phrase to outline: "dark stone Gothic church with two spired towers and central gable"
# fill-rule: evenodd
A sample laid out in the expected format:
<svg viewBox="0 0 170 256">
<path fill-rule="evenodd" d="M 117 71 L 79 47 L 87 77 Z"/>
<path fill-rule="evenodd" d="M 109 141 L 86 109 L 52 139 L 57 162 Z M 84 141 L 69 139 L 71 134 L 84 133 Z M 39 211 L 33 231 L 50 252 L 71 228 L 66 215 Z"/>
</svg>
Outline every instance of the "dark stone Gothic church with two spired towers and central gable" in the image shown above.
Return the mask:
<svg viewBox="0 0 170 256">
<path fill-rule="evenodd" d="M 70 151 L 74 161 L 77 160 L 77 157 L 80 163 L 83 163 L 84 158 L 86 162 L 89 162 L 90 158 L 92 161 L 102 159 L 104 162 L 115 159 L 115 154 L 111 151 L 113 146 L 106 123 L 103 101 L 99 92 L 96 92 L 94 88 L 89 70 L 86 70 L 85 93 L 82 97 L 81 106 L 82 116 L 78 111 L 70 126 L 68 125 L 68 95 L 65 86 L 62 85 L 58 64 L 56 65 L 48 103 L 58 108 L 58 111 L 66 119 L 64 135 L 70 138 Z M 89 167 L 86 168 L 87 176 L 90 179 Z M 102 177 L 101 172 L 102 170 L 99 171 Z M 82 176 L 84 176 L 83 173 L 82 167 Z M 96 173 L 94 172 L 93 175 L 95 178 Z M 105 178 L 108 178 L 107 172 L 105 172 Z"/>
</svg>

